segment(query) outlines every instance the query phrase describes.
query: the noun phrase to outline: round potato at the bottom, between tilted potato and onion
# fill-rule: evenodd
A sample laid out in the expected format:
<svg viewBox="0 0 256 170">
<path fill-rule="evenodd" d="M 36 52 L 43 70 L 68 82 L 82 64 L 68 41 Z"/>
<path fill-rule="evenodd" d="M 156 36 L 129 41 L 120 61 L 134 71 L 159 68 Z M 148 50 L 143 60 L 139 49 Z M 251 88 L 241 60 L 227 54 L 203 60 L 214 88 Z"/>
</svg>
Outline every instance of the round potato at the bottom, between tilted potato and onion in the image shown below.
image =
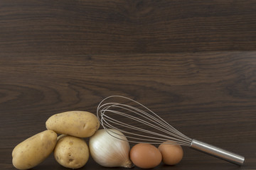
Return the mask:
<svg viewBox="0 0 256 170">
<path fill-rule="evenodd" d="M 60 135 L 54 149 L 56 161 L 66 168 L 78 169 L 89 159 L 89 148 L 85 140 L 69 135 Z"/>
</svg>

